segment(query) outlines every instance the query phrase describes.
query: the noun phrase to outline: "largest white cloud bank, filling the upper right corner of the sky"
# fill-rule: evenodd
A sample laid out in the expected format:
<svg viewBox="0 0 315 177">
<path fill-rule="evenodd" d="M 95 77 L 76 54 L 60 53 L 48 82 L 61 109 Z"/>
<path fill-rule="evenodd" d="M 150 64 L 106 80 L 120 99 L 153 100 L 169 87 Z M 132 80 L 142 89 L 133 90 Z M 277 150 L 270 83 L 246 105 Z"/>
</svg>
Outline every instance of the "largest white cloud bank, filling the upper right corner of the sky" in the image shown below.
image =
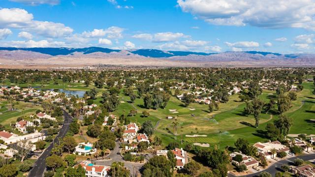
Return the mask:
<svg viewBox="0 0 315 177">
<path fill-rule="evenodd" d="M 315 0 L 177 0 L 184 12 L 216 25 L 315 30 Z"/>
</svg>

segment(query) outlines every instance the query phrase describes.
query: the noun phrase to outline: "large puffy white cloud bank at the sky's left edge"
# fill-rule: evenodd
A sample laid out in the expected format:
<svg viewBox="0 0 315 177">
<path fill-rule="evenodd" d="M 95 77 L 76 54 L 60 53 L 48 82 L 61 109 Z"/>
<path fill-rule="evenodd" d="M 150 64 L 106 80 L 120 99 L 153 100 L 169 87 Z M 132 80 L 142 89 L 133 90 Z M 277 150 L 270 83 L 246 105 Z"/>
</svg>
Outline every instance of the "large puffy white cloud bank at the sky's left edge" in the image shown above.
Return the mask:
<svg viewBox="0 0 315 177">
<path fill-rule="evenodd" d="M 20 8 L 0 9 L 0 27 L 19 28 L 45 37 L 63 37 L 71 35 L 73 29 L 62 23 L 36 21 L 33 15 Z"/>
</svg>

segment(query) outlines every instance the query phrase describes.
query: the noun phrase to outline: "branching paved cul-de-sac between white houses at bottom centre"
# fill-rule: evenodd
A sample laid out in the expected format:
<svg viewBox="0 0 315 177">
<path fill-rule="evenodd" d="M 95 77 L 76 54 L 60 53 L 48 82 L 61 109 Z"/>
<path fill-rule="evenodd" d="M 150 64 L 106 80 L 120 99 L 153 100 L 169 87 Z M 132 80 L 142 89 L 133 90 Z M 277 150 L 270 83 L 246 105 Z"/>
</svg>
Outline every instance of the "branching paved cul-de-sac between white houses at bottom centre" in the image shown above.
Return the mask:
<svg viewBox="0 0 315 177">
<path fill-rule="evenodd" d="M 102 158 L 98 158 L 99 160 L 95 161 L 96 165 L 105 165 L 105 166 L 111 166 L 113 162 L 124 162 L 125 167 L 130 170 L 130 175 L 132 177 L 136 177 L 137 174 L 139 174 L 140 169 L 144 165 L 144 163 L 134 163 L 134 162 L 127 162 L 123 159 L 121 155 L 118 155 L 117 153 L 121 151 L 121 148 L 119 148 L 120 143 L 116 142 L 116 146 L 114 150 L 110 152 L 110 154 L 106 158 L 110 158 L 110 160 L 102 160 Z M 146 160 L 150 159 L 150 154 L 145 156 Z"/>
</svg>

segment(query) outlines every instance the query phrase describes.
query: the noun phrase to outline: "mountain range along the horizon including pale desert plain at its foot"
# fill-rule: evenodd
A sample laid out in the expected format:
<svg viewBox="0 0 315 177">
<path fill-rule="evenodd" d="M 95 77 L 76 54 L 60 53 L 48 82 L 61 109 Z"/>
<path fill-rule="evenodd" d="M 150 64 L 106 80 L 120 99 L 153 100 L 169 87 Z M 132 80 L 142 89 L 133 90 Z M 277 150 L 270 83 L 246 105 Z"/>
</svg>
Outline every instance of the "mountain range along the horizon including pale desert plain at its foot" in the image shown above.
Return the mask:
<svg viewBox="0 0 315 177">
<path fill-rule="evenodd" d="M 245 51 L 205 53 L 157 49 L 0 47 L 2 65 L 315 66 L 315 54 Z"/>
</svg>

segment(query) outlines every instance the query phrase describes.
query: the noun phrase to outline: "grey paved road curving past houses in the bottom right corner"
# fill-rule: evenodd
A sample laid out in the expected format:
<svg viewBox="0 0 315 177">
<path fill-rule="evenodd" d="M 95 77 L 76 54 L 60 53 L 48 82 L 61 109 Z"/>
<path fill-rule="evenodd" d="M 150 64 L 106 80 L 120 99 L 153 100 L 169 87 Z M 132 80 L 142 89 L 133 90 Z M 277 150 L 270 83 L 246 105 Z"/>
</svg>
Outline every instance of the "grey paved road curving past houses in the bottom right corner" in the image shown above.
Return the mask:
<svg viewBox="0 0 315 177">
<path fill-rule="evenodd" d="M 268 172 L 274 177 L 278 171 L 281 171 L 282 165 L 292 165 L 294 159 L 297 159 L 297 158 L 303 159 L 304 161 L 313 160 L 315 159 L 315 154 L 305 154 L 301 156 L 296 156 L 296 157 L 280 160 L 274 163 L 273 165 L 271 165 L 268 169 L 248 175 L 246 177 L 257 177 L 261 172 Z M 235 177 L 235 176 L 232 174 L 229 174 L 228 177 Z"/>
</svg>

